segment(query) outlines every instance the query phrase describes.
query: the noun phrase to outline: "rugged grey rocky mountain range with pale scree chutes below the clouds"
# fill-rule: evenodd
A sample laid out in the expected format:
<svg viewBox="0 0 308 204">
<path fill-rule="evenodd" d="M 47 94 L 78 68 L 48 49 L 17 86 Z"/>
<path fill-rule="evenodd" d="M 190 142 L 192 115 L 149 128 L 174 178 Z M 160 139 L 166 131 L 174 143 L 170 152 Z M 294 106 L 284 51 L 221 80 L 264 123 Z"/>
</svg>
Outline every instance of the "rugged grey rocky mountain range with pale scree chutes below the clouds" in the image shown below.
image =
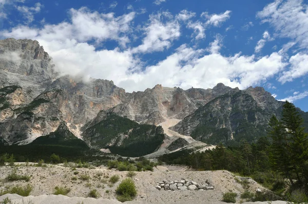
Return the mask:
<svg viewBox="0 0 308 204">
<path fill-rule="evenodd" d="M 284 103 L 262 87 L 221 83 L 127 93 L 113 81 L 61 75 L 54 66 L 36 40 L 0 40 L 0 146 L 73 144 L 134 157 L 254 142 Z M 299 111 L 308 127 L 308 113 Z"/>
</svg>

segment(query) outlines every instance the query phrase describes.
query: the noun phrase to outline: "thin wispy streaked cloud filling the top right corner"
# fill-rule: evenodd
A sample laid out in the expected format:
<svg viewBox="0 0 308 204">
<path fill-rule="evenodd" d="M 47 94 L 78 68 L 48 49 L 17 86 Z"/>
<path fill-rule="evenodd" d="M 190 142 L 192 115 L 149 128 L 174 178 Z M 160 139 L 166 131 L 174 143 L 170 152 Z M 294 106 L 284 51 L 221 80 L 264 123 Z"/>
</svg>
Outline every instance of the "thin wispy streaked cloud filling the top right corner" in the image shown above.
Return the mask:
<svg viewBox="0 0 308 204">
<path fill-rule="evenodd" d="M 291 38 L 300 48 L 308 48 L 308 7 L 302 0 L 276 0 L 257 17 L 273 26 L 277 36 Z"/>
</svg>

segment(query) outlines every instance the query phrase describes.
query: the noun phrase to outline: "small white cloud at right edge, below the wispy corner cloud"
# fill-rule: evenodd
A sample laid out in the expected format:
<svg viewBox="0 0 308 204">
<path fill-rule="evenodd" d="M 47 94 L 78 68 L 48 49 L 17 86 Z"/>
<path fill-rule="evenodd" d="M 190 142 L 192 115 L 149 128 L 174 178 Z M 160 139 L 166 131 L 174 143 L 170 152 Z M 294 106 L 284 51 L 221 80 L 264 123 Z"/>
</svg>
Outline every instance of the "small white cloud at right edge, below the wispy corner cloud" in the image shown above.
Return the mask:
<svg viewBox="0 0 308 204">
<path fill-rule="evenodd" d="M 297 53 L 289 60 L 290 68 L 288 71 L 282 72 L 278 78 L 282 84 L 287 81 L 293 81 L 295 78 L 299 78 L 308 73 L 308 55 L 303 53 Z"/>
</svg>

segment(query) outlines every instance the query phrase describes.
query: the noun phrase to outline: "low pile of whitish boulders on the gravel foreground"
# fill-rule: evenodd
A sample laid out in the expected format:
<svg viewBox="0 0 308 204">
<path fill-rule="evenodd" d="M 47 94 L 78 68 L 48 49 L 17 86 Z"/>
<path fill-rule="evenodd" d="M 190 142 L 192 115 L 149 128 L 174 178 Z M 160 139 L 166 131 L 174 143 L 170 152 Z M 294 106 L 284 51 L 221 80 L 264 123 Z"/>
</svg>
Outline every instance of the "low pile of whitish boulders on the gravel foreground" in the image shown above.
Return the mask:
<svg viewBox="0 0 308 204">
<path fill-rule="evenodd" d="M 158 190 L 164 189 L 169 191 L 175 190 L 214 190 L 214 185 L 210 180 L 206 180 L 202 183 L 197 183 L 192 180 L 181 179 L 178 180 L 163 180 L 156 183 L 157 186 L 155 187 Z"/>
</svg>

